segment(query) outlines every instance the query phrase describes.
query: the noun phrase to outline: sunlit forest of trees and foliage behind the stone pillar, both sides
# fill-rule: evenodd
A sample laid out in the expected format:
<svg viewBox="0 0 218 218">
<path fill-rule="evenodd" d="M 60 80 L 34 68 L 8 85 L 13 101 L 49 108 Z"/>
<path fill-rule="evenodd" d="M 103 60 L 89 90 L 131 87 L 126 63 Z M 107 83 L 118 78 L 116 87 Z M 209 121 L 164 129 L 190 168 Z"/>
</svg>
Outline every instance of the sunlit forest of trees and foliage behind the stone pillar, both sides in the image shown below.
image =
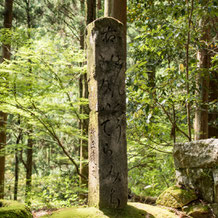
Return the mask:
<svg viewBox="0 0 218 218">
<path fill-rule="evenodd" d="M 84 0 L 14 0 L 5 28 L 0 2 L 5 199 L 37 209 L 86 201 L 87 8 Z M 103 8 L 101 0 L 92 7 L 97 18 Z M 215 0 L 128 1 L 128 178 L 137 195 L 174 184 L 174 143 L 218 137 L 216 12 Z"/>
</svg>

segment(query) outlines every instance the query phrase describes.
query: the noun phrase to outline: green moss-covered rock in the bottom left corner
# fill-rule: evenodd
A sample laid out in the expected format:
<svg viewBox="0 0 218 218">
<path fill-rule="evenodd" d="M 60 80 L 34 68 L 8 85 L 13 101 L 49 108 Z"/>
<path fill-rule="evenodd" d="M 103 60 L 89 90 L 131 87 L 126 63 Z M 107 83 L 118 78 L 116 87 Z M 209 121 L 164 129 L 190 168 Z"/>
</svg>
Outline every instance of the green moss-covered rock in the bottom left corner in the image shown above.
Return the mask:
<svg viewBox="0 0 218 218">
<path fill-rule="evenodd" d="M 1 218 L 32 218 L 32 213 L 28 207 L 17 201 L 7 201 L 0 199 Z"/>
</svg>

